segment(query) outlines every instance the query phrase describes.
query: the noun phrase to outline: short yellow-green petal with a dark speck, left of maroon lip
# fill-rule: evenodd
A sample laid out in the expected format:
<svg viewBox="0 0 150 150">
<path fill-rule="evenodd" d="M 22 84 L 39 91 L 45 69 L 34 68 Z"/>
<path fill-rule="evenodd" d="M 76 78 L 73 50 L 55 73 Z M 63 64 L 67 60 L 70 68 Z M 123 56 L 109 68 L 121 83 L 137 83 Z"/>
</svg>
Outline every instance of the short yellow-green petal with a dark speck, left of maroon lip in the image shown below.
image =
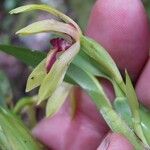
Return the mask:
<svg viewBox="0 0 150 150">
<path fill-rule="evenodd" d="M 46 59 L 41 61 L 28 77 L 26 92 L 31 91 L 42 83 L 43 79 L 46 76 L 45 62 Z"/>
</svg>

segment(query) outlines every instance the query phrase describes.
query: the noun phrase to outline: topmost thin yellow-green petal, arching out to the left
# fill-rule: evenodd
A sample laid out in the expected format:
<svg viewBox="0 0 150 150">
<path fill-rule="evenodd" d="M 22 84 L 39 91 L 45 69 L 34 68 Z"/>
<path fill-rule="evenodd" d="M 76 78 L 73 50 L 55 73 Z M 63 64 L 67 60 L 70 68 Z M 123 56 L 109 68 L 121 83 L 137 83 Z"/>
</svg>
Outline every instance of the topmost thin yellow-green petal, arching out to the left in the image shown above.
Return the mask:
<svg viewBox="0 0 150 150">
<path fill-rule="evenodd" d="M 22 13 L 22 12 L 31 11 L 31 10 L 47 11 L 50 14 L 62 19 L 66 23 L 73 24 L 77 28 L 78 32 L 81 33 L 79 26 L 70 17 L 66 16 L 65 14 L 61 13 L 60 11 L 58 11 L 55 8 L 50 7 L 48 5 L 38 5 L 38 4 L 25 5 L 25 6 L 21 6 L 21 7 L 11 10 L 10 14 L 18 14 L 18 13 Z"/>
</svg>

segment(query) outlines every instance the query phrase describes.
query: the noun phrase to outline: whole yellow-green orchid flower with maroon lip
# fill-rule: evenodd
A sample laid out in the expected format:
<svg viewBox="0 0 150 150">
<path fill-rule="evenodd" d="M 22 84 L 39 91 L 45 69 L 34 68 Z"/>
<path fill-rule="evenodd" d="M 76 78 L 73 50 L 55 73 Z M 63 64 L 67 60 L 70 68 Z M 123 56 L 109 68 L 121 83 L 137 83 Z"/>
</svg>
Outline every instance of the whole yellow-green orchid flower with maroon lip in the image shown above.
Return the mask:
<svg viewBox="0 0 150 150">
<path fill-rule="evenodd" d="M 80 50 L 80 28 L 69 17 L 47 5 L 27 5 L 12 10 L 11 14 L 16 14 L 33 9 L 49 11 L 51 14 L 62 19 L 60 22 L 54 19 L 47 19 L 32 23 L 19 30 L 16 34 L 32 35 L 42 32 L 55 32 L 63 34 L 67 38 L 55 38 L 50 40 L 50 49 L 45 58 L 31 73 L 27 81 L 26 91 L 30 91 L 38 86 L 39 101 L 52 96 L 52 93 L 62 84 L 65 73 L 74 57 Z"/>
</svg>

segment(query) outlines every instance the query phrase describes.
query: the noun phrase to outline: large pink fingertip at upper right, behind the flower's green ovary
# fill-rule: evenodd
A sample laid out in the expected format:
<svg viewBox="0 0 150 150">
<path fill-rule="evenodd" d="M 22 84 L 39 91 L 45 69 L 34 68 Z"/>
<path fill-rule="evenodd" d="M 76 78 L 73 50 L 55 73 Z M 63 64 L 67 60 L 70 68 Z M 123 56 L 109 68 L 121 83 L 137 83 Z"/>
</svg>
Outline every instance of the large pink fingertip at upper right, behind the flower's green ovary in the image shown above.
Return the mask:
<svg viewBox="0 0 150 150">
<path fill-rule="evenodd" d="M 136 80 L 148 58 L 149 26 L 141 0 L 98 0 L 87 35 L 108 50 Z"/>
</svg>

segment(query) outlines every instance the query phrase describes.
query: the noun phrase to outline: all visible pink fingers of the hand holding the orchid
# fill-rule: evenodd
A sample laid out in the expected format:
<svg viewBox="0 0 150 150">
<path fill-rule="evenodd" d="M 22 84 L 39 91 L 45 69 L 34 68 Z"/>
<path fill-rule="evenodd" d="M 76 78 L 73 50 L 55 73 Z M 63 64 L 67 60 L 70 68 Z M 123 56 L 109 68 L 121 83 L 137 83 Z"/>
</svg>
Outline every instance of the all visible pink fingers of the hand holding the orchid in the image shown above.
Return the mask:
<svg viewBox="0 0 150 150">
<path fill-rule="evenodd" d="M 148 33 L 140 0 L 97 0 L 87 28 L 88 36 L 103 45 L 120 69 L 127 68 L 134 80 L 148 58 Z M 149 76 L 150 61 L 137 83 L 140 100 L 150 106 Z M 110 85 L 102 79 L 100 81 L 108 97 L 113 100 Z M 43 119 L 33 129 L 33 135 L 54 150 L 133 149 L 121 135 L 113 133 L 105 138 L 109 129 L 91 99 L 80 89 L 76 90 L 76 98 L 74 118 L 70 115 L 68 100 L 56 116 Z"/>
</svg>

